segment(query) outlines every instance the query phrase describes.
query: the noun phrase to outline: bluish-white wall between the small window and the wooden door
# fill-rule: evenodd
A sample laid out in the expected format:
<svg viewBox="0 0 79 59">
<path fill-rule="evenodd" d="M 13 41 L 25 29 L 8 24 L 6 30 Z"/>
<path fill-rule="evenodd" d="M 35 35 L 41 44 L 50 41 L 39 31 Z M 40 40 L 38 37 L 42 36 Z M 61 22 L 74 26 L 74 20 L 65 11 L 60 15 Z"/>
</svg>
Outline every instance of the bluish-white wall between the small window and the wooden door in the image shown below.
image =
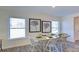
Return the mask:
<svg viewBox="0 0 79 59">
<path fill-rule="evenodd" d="M 74 17 L 79 16 L 79 13 L 64 16 L 62 18 L 62 32 L 68 33 L 70 37 L 68 41 L 74 42 Z"/>
</svg>

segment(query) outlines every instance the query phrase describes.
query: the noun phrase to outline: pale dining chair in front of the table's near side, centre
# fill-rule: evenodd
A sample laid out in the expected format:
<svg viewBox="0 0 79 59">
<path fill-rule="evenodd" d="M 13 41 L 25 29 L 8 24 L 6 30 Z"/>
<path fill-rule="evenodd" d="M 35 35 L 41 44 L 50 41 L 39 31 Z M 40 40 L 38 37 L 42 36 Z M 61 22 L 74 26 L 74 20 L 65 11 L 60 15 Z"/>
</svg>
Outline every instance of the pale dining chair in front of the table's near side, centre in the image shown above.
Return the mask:
<svg viewBox="0 0 79 59">
<path fill-rule="evenodd" d="M 46 44 L 45 50 L 47 52 L 59 52 L 57 40 L 57 38 L 49 39 L 49 41 Z"/>
</svg>

